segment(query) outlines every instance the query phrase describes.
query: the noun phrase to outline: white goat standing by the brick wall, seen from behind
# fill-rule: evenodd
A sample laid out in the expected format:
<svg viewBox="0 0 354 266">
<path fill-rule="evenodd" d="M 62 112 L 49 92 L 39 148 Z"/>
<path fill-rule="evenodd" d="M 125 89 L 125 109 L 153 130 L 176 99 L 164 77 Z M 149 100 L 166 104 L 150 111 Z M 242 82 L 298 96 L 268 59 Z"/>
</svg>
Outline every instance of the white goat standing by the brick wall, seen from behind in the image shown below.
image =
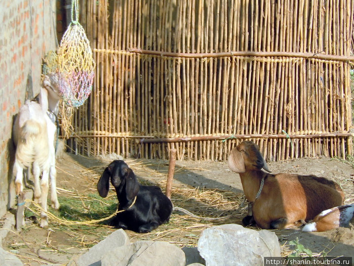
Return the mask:
<svg viewBox="0 0 354 266">
<path fill-rule="evenodd" d="M 16 155 L 13 168 L 16 195 L 23 193 L 23 170 L 32 170 L 34 176 L 34 201 L 47 211 L 49 177 L 51 179 L 52 207 L 59 209 L 57 197 L 54 139 L 57 131 L 56 115 L 59 111 L 58 80 L 46 75 L 40 88 L 39 104 L 26 101 L 20 108 L 13 126 Z M 29 171 L 28 171 L 29 172 Z M 41 174 L 41 179 L 39 176 Z M 40 227 L 48 226 L 45 211 L 40 214 Z M 24 224 L 24 219 L 20 221 Z"/>
</svg>

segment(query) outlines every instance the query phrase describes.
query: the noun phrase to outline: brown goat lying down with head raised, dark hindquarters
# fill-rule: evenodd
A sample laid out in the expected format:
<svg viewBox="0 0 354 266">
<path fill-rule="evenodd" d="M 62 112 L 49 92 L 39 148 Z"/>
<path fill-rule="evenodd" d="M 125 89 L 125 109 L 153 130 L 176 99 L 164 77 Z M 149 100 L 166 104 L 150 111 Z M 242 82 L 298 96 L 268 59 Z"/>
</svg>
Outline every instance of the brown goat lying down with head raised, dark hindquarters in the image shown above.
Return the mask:
<svg viewBox="0 0 354 266">
<path fill-rule="evenodd" d="M 252 203 L 253 221 L 263 229 L 299 226 L 321 211 L 343 204 L 339 185 L 314 175 L 271 174 L 258 145 L 244 141 L 231 151 L 229 167 L 240 174 L 243 191 Z"/>
</svg>

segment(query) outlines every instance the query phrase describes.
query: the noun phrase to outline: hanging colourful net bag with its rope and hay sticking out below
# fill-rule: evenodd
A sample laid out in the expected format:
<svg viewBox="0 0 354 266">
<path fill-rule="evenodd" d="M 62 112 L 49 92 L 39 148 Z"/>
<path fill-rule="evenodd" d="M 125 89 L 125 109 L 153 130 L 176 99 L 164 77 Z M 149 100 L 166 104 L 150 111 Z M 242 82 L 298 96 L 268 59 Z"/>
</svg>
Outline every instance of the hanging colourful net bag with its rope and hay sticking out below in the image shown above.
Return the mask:
<svg viewBox="0 0 354 266">
<path fill-rule="evenodd" d="M 73 20 L 75 14 L 75 20 Z M 65 31 L 57 52 L 50 51 L 43 62 L 42 73 L 55 74 L 58 80 L 60 126 L 68 139 L 74 134 L 72 117 L 75 107 L 81 106 L 92 92 L 95 61 L 90 42 L 78 22 L 77 0 L 71 2 L 71 23 Z"/>
</svg>

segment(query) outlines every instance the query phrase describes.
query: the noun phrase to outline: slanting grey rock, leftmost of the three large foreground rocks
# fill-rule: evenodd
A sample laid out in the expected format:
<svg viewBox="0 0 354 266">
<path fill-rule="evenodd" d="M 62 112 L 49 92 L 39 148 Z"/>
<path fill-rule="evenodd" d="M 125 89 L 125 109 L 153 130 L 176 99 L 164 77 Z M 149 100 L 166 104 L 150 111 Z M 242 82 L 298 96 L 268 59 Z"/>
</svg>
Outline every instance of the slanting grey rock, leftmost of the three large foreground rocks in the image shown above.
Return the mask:
<svg viewBox="0 0 354 266">
<path fill-rule="evenodd" d="M 128 245 L 129 243 L 129 238 L 124 230 L 118 229 L 80 256 L 76 261 L 76 265 L 101 266 L 101 258 L 104 254 L 111 253 L 117 247 Z"/>
</svg>

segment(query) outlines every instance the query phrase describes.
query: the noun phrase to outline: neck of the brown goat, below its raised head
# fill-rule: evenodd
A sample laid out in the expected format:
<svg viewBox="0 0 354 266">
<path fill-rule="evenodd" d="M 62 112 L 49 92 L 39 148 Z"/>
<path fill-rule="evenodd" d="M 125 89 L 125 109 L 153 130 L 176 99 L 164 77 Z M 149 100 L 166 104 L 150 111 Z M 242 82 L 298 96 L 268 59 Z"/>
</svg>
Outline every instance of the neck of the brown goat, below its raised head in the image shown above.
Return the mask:
<svg viewBox="0 0 354 266">
<path fill-rule="evenodd" d="M 260 187 L 260 182 L 264 178 L 264 172 L 261 170 L 246 171 L 240 173 L 243 192 L 248 201 L 254 202 Z"/>
</svg>

